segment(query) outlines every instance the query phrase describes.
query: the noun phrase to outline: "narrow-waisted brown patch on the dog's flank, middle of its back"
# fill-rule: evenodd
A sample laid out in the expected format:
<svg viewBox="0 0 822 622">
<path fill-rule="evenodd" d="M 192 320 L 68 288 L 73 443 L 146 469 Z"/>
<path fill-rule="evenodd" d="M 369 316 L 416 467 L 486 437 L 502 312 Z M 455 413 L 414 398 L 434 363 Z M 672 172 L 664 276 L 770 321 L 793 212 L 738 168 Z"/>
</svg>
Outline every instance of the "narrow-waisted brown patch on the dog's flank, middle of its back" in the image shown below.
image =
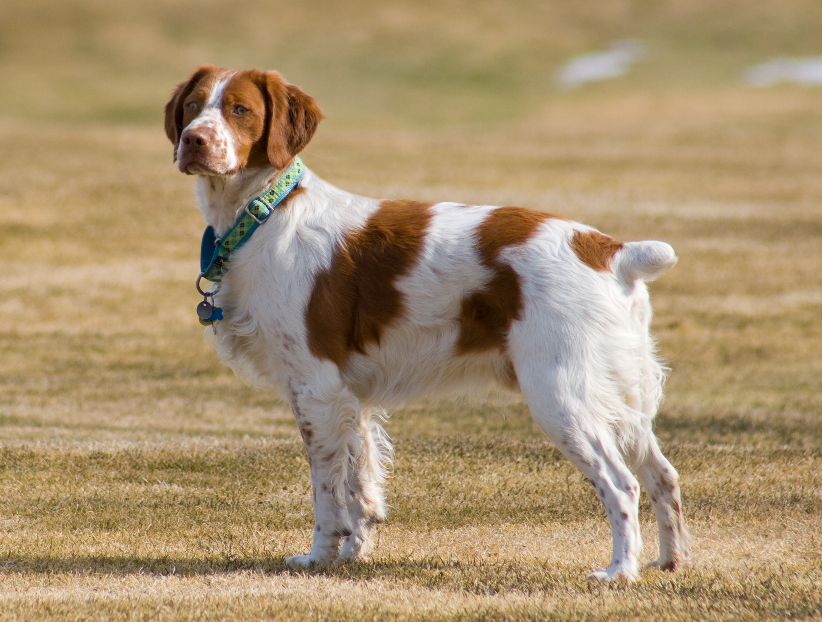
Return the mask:
<svg viewBox="0 0 822 622">
<path fill-rule="evenodd" d="M 459 311 L 457 353 L 505 349 L 513 320 L 520 319 L 520 279 L 510 265 L 497 260 L 506 246 L 527 242 L 552 214 L 500 207 L 477 228 L 477 253 L 492 277 L 485 287 L 464 298 Z"/>
</svg>

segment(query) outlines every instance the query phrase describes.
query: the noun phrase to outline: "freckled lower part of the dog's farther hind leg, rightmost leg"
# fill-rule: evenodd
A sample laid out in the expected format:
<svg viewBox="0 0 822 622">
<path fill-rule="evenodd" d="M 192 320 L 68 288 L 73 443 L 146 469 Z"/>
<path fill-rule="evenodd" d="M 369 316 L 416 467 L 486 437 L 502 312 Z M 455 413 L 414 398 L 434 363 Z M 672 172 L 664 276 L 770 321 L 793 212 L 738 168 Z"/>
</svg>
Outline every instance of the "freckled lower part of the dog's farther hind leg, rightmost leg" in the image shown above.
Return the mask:
<svg viewBox="0 0 822 622">
<path fill-rule="evenodd" d="M 690 534 L 682 519 L 679 474 L 659 449 L 651 435 L 644 459 L 636 468 L 645 492 L 651 500 L 659 528 L 659 558 L 648 565 L 674 570 L 690 560 Z"/>
</svg>

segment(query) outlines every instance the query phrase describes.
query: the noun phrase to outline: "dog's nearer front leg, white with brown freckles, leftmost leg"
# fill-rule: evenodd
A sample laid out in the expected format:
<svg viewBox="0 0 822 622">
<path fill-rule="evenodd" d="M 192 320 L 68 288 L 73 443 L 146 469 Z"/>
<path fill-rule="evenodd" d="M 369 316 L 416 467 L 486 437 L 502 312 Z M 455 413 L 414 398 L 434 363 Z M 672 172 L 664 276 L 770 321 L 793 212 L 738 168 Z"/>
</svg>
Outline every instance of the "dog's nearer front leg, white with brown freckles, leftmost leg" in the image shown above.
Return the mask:
<svg viewBox="0 0 822 622">
<path fill-rule="evenodd" d="M 311 468 L 314 536 L 308 555 L 294 555 L 289 564 L 327 564 L 339 554 L 344 537 L 353 524 L 348 506 L 357 468 L 361 439 L 358 434 L 359 401 L 337 385 L 318 391 L 316 387 L 293 394 L 291 406 L 297 419 Z"/>
</svg>

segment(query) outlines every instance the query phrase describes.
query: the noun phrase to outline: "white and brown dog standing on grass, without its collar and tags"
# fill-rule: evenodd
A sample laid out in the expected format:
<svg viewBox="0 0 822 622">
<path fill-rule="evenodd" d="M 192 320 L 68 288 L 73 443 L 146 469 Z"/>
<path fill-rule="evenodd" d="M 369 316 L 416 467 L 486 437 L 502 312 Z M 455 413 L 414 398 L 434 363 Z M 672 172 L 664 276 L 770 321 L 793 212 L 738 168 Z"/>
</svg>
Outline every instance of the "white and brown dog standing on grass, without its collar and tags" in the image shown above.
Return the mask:
<svg viewBox="0 0 822 622">
<path fill-rule="evenodd" d="M 321 117 L 275 71 L 200 67 L 178 85 L 165 130 L 180 171 L 199 176 L 217 236 L 289 167 Z M 651 429 L 665 374 L 644 285 L 676 261 L 663 242 L 619 243 L 550 214 L 367 199 L 306 170 L 232 254 L 213 330 L 238 376 L 289 400 L 305 441 L 314 541 L 289 563 L 367 555 L 386 518 L 392 458 L 379 408 L 491 382 L 521 391 L 593 482 L 613 555 L 592 577 L 637 577 L 637 479 L 659 527 L 651 565 L 685 563 L 677 471 Z"/>
</svg>

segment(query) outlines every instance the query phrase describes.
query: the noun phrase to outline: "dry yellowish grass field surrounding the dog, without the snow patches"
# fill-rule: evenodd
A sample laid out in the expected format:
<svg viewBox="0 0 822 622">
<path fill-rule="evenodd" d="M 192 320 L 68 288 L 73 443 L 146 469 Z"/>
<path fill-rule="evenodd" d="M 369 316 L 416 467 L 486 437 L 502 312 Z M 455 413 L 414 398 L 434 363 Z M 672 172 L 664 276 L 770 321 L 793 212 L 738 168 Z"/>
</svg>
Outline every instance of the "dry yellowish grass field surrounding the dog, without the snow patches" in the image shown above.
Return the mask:
<svg viewBox="0 0 822 622">
<path fill-rule="evenodd" d="M 822 92 L 736 82 L 822 53 L 822 13 L 747 4 L 5 2 L 0 620 L 822 620 Z M 278 36 L 248 44 L 252 23 Z M 626 36 L 653 52 L 635 74 L 552 90 L 562 58 Z M 302 443 L 202 339 L 203 223 L 161 129 L 198 62 L 316 94 L 304 159 L 350 191 L 672 243 L 656 431 L 689 569 L 586 581 L 603 509 L 496 393 L 394 412 L 373 561 L 286 568 L 312 535 Z"/>
</svg>

